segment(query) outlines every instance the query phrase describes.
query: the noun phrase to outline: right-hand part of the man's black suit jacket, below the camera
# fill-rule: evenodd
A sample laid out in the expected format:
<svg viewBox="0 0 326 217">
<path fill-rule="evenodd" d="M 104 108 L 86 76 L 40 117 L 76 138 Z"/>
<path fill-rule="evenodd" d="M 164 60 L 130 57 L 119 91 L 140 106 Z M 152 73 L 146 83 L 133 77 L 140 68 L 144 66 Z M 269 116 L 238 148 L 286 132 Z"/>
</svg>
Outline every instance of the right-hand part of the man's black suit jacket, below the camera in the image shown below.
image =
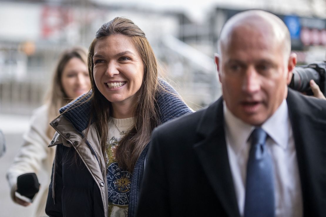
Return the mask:
<svg viewBox="0 0 326 217">
<path fill-rule="evenodd" d="M 287 103 L 297 152 L 304 216 L 317 216 L 325 209 L 321 203 L 325 195 L 320 187 L 326 186 L 326 101 L 289 89 Z"/>
</svg>

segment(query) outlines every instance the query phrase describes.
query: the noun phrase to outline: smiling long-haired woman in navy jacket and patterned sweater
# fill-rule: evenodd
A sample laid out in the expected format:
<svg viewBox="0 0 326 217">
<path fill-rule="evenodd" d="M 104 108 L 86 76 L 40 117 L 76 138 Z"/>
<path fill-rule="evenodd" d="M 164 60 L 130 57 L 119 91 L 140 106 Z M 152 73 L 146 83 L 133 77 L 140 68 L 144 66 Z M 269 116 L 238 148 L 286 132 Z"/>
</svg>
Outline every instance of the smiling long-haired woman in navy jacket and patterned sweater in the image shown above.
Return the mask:
<svg viewBox="0 0 326 217">
<path fill-rule="evenodd" d="M 101 26 L 88 69 L 92 91 L 51 123 L 58 146 L 46 212 L 134 216 L 152 130 L 192 110 L 158 79 L 155 54 L 129 19 Z"/>
</svg>

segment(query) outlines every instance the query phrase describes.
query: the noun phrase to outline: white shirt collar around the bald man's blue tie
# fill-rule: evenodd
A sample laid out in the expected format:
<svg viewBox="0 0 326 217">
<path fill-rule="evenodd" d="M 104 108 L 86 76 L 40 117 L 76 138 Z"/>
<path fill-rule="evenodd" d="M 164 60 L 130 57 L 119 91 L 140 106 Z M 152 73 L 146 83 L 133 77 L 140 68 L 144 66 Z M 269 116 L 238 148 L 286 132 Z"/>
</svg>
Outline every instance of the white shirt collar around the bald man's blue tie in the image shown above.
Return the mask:
<svg viewBox="0 0 326 217">
<path fill-rule="evenodd" d="M 254 126 L 244 123 L 242 120 L 234 116 L 227 108 L 223 101 L 223 111 L 226 132 L 230 146 L 236 154 L 248 141 Z M 283 100 L 274 114 L 268 118 L 261 128 L 269 135 L 272 140 L 281 148 L 286 149 L 289 141 L 289 114 L 286 100 Z"/>
</svg>

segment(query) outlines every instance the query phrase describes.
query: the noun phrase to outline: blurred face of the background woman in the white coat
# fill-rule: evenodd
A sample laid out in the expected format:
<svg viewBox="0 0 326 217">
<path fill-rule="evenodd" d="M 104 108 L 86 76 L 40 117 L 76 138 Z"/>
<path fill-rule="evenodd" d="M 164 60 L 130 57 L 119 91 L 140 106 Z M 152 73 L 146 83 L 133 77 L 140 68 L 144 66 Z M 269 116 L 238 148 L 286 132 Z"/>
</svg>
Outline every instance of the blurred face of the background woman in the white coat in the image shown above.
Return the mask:
<svg viewBox="0 0 326 217">
<path fill-rule="evenodd" d="M 73 57 L 67 62 L 61 75 L 61 84 L 68 98 L 77 98 L 90 90 L 88 70 L 81 59 Z"/>
</svg>

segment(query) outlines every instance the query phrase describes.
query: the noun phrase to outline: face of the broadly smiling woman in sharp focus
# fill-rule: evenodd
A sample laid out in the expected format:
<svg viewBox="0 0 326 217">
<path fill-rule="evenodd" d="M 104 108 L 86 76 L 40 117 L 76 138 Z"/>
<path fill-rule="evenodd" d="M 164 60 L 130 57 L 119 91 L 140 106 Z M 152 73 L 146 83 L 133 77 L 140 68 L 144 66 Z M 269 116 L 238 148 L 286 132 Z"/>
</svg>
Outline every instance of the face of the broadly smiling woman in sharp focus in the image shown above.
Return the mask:
<svg viewBox="0 0 326 217">
<path fill-rule="evenodd" d="M 130 38 L 118 34 L 99 39 L 93 61 L 95 84 L 103 96 L 113 106 L 133 106 L 144 77 L 144 65 Z"/>
</svg>

